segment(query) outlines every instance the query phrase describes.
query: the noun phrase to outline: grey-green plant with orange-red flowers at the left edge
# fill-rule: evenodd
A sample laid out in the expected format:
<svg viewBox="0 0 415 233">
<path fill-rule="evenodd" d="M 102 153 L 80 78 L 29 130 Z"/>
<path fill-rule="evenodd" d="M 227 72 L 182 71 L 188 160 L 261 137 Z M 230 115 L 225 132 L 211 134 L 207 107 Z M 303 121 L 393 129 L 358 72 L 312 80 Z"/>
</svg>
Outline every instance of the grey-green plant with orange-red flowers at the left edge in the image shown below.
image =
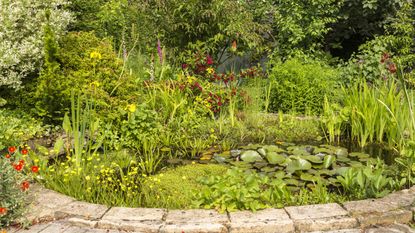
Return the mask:
<svg viewBox="0 0 415 233">
<path fill-rule="evenodd" d="M 25 161 L 29 151 L 27 148 L 11 146 L 8 153 L 0 157 L 0 226 L 9 226 L 26 211 L 26 192 L 30 183 L 24 175 L 28 170 L 39 172 L 38 166 L 28 166 Z"/>
</svg>

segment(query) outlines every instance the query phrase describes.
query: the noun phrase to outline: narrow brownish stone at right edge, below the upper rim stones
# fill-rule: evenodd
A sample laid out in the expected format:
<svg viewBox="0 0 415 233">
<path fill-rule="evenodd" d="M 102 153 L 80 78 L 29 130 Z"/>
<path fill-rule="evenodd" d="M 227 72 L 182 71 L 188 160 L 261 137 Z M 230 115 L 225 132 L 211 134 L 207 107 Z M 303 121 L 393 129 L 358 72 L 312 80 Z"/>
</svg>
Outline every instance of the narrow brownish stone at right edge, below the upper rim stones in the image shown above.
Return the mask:
<svg viewBox="0 0 415 233">
<path fill-rule="evenodd" d="M 412 221 L 412 211 L 394 210 L 383 213 L 368 213 L 357 216 L 362 227 L 370 225 L 390 225 L 394 223 L 409 223 Z"/>
</svg>

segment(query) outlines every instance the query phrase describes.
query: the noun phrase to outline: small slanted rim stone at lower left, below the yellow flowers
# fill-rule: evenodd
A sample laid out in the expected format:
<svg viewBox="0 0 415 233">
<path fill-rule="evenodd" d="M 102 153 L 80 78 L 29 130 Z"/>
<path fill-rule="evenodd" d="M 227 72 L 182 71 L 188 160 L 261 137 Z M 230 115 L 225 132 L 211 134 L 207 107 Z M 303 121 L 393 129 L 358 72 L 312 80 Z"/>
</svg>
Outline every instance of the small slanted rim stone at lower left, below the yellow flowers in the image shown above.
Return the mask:
<svg viewBox="0 0 415 233">
<path fill-rule="evenodd" d="M 97 220 L 100 219 L 108 209 L 109 208 L 104 205 L 75 201 L 56 211 L 55 217 L 57 219 L 62 219 L 76 216 L 87 220 Z"/>
</svg>

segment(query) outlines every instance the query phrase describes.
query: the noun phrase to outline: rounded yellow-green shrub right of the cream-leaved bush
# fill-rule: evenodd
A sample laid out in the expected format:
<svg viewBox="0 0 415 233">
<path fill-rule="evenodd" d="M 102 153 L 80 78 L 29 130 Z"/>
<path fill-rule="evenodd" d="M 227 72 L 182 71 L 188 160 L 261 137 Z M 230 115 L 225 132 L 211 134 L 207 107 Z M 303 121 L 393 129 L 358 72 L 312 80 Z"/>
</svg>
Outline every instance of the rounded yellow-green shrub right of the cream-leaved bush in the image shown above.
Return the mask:
<svg viewBox="0 0 415 233">
<path fill-rule="evenodd" d="M 37 80 L 35 95 L 37 114 L 49 121 L 61 121 L 69 110 L 73 91 L 94 99 L 97 109 L 111 117 L 111 109 L 126 98 L 134 98 L 133 86 L 123 73 L 123 63 L 114 53 L 108 40 L 92 33 L 69 33 L 56 45 L 50 38 L 45 49 L 53 62 L 46 62 Z M 52 52 L 54 51 L 54 52 Z M 52 101 L 53 100 L 53 101 Z M 116 109 L 116 108 L 115 108 Z"/>
</svg>

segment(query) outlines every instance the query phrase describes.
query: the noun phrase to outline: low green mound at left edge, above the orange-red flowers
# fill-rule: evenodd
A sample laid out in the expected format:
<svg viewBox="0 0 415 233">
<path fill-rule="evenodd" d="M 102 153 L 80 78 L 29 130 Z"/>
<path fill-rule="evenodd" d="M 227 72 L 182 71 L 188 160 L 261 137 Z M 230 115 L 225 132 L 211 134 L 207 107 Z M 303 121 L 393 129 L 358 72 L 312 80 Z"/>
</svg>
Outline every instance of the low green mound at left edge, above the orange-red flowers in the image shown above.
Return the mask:
<svg viewBox="0 0 415 233">
<path fill-rule="evenodd" d="M 42 124 L 24 111 L 0 109 L 0 150 L 39 136 Z"/>
</svg>

